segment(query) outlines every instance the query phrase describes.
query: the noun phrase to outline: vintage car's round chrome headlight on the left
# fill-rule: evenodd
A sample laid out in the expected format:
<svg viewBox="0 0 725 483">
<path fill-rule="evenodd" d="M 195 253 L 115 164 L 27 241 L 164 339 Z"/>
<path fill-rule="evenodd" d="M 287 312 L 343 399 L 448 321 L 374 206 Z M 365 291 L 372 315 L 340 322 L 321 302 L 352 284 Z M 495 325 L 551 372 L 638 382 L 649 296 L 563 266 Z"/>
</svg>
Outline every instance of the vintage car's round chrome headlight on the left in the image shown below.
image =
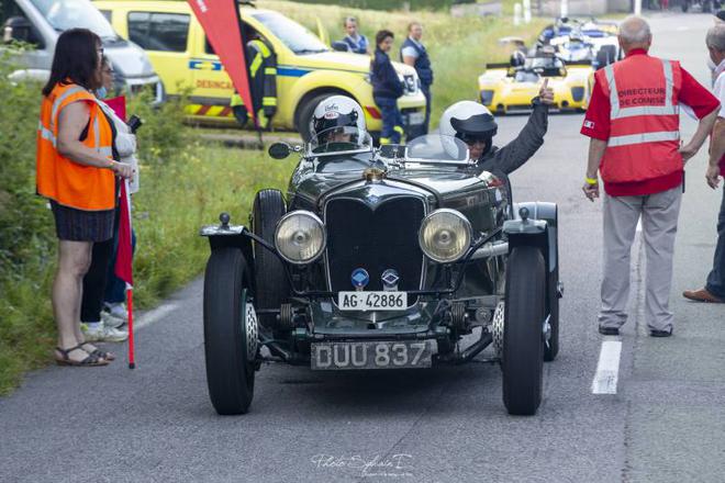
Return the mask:
<svg viewBox="0 0 725 483">
<path fill-rule="evenodd" d="M 290 212 L 277 223 L 275 247 L 290 263 L 310 263 L 325 249 L 325 226 L 314 213 Z"/>
</svg>

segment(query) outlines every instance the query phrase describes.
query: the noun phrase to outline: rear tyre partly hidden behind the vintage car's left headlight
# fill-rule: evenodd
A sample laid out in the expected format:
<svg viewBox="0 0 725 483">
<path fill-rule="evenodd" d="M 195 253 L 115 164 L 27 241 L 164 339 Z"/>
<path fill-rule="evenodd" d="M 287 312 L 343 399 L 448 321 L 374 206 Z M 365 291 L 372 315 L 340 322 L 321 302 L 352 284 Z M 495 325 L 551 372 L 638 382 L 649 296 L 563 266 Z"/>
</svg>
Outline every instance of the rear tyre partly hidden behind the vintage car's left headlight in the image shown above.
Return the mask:
<svg viewBox="0 0 725 483">
<path fill-rule="evenodd" d="M 277 222 L 287 213 L 285 199 L 279 190 L 261 190 L 252 207 L 254 234 L 275 244 Z M 258 310 L 279 307 L 290 294 L 289 280 L 282 261 L 261 245 L 254 244 L 255 306 Z M 269 328 L 277 325 L 276 314 L 259 314 L 259 323 Z"/>
</svg>

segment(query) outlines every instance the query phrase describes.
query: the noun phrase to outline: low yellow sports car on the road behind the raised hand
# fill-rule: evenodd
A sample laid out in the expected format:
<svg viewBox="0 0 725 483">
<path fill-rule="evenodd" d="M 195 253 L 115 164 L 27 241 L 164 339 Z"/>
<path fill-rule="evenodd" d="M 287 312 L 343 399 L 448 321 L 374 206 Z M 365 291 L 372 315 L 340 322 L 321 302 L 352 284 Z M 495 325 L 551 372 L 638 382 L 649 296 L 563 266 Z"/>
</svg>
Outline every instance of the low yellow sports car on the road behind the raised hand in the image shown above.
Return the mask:
<svg viewBox="0 0 725 483">
<path fill-rule="evenodd" d="M 481 103 L 498 114 L 528 111 L 544 79 L 548 79 L 548 87 L 554 89 L 554 109 L 582 110 L 592 71 L 591 61 L 565 64 L 555 55 L 527 57 L 518 66 L 489 64 L 478 79 Z"/>
</svg>

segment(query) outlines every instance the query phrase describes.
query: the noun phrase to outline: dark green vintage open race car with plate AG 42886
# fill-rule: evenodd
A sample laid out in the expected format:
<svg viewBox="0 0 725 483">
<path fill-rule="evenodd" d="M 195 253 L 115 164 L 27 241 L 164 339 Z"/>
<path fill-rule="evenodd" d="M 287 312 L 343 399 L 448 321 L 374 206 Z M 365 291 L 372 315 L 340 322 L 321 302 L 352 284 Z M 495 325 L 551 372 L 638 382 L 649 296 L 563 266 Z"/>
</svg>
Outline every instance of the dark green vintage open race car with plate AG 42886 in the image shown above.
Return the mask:
<svg viewBox="0 0 725 483">
<path fill-rule="evenodd" d="M 557 206 L 513 204 L 457 138 L 322 136 L 270 147 L 301 160 L 286 194 L 257 193 L 250 226 L 223 213 L 201 231 L 214 408 L 246 413 L 264 360 L 423 369 L 493 344 L 507 411 L 534 414 L 558 352 Z"/>
</svg>

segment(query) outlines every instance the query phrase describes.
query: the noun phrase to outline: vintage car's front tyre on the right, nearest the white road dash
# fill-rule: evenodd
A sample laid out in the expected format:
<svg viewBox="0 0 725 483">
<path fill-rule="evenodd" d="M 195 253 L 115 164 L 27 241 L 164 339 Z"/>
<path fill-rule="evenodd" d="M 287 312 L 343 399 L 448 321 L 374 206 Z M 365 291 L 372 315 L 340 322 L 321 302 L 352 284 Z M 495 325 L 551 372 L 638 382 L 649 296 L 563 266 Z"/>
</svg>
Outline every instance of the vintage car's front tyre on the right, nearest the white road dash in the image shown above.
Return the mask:
<svg viewBox="0 0 725 483">
<path fill-rule="evenodd" d="M 503 403 L 509 414 L 528 416 L 542 402 L 543 323 L 546 314 L 546 266 L 535 247 L 515 247 L 506 271 L 503 326 Z"/>
</svg>

